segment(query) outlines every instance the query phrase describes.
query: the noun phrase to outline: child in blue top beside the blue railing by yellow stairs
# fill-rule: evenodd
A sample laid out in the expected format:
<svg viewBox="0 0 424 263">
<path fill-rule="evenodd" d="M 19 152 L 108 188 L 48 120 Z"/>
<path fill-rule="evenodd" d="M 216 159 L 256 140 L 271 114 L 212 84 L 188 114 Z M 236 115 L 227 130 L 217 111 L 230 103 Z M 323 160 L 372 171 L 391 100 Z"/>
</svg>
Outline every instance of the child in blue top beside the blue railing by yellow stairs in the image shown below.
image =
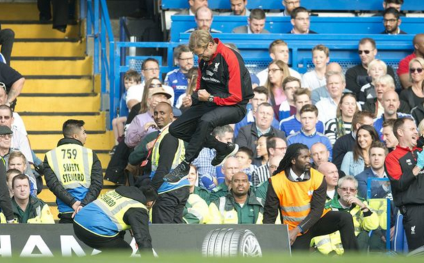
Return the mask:
<svg viewBox="0 0 424 263">
<path fill-rule="evenodd" d="M 141 83 L 141 75 L 138 74 L 137 71 L 130 69 L 129 71 L 125 72 L 124 75 L 124 87 L 125 92 L 121 96 L 120 100 L 120 112 L 118 112 L 118 117 L 113 119 L 112 121 L 112 128 L 113 128 L 113 135 L 115 136 L 115 146 L 118 144 L 118 139 L 124 135 L 124 126 L 127 122 L 127 116 L 129 113 L 126 99 L 127 99 L 127 91 L 129 87 L 133 85 L 138 85 Z M 115 149 L 115 147 L 113 147 Z M 113 154 L 113 150 L 111 153 Z"/>
</svg>

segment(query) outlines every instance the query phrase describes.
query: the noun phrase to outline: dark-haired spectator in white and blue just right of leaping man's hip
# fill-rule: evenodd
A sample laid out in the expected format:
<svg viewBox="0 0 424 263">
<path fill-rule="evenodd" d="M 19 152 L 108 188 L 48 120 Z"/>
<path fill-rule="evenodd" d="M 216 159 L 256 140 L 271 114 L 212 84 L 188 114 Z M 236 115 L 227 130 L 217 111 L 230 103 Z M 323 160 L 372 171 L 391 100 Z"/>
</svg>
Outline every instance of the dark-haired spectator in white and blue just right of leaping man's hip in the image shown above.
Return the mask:
<svg viewBox="0 0 424 263">
<path fill-rule="evenodd" d="M 253 89 L 254 97 L 250 100 L 252 108 L 247 110 L 246 116 L 234 127 L 234 137 L 238 136 L 238 131 L 240 128 L 247 126 L 248 124 L 254 123 L 254 118 L 256 116 L 256 110 L 261 103 L 268 102 L 268 90 L 266 87 L 259 86 Z M 275 117 L 272 117 L 271 126 L 274 128 L 278 128 L 279 124 Z"/>
</svg>

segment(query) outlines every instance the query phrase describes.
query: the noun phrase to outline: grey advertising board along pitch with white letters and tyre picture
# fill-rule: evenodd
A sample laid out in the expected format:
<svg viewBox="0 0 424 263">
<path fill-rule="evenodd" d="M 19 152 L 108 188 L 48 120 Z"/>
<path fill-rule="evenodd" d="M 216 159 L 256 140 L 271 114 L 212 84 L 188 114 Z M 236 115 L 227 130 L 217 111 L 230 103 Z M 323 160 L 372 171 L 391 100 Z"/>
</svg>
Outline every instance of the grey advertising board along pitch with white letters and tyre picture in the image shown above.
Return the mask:
<svg viewBox="0 0 424 263">
<path fill-rule="evenodd" d="M 190 253 L 209 257 L 291 255 L 286 225 L 150 225 L 154 251 L 161 255 Z M 125 239 L 140 257 L 129 232 Z M 72 224 L 0 226 L 0 257 L 95 255 L 74 235 Z"/>
</svg>

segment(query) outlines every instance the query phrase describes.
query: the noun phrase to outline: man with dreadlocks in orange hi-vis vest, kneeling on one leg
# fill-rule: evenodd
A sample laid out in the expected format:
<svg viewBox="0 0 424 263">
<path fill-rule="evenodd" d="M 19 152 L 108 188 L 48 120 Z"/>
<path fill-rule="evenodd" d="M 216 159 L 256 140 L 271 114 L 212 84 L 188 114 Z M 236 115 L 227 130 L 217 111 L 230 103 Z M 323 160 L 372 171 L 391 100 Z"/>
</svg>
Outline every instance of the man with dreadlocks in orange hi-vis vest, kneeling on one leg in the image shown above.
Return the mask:
<svg viewBox="0 0 424 263">
<path fill-rule="evenodd" d="M 263 223 L 275 223 L 281 209 L 293 250 L 307 250 L 311 239 L 337 230 L 345 251 L 357 251 L 350 214 L 325 210 L 327 183 L 311 168 L 311 153 L 304 144 L 291 144 L 269 179 Z"/>
</svg>

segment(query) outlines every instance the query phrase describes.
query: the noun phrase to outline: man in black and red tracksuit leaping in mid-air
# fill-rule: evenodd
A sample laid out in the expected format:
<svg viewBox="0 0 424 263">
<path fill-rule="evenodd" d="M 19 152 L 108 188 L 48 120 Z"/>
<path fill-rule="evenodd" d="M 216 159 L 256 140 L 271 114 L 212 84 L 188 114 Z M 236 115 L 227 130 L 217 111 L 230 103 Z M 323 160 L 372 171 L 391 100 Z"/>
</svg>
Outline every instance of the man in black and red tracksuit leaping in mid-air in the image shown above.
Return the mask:
<svg viewBox="0 0 424 263">
<path fill-rule="evenodd" d="M 195 92 L 183 101 L 184 107 L 191 107 L 170 126 L 170 133 L 188 146 L 185 159 L 165 176 L 169 183 L 188 175 L 190 163 L 203 147 L 217 151 L 213 166 L 237 153 L 236 144 L 219 142 L 211 133 L 215 127 L 241 121 L 253 97 L 250 73 L 237 51 L 202 30 L 190 35 L 188 47 L 199 57 L 199 78 Z"/>
</svg>

